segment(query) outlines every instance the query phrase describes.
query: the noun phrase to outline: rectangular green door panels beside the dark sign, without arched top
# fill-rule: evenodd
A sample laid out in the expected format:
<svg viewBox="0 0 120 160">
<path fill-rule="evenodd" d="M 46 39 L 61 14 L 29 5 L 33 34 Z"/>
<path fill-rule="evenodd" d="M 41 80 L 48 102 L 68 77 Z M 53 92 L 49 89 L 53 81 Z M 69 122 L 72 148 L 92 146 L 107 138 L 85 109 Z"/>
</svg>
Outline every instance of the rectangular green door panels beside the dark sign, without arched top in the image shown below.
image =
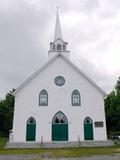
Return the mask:
<svg viewBox="0 0 120 160">
<path fill-rule="evenodd" d="M 84 139 L 93 140 L 93 125 L 84 124 Z"/>
</svg>

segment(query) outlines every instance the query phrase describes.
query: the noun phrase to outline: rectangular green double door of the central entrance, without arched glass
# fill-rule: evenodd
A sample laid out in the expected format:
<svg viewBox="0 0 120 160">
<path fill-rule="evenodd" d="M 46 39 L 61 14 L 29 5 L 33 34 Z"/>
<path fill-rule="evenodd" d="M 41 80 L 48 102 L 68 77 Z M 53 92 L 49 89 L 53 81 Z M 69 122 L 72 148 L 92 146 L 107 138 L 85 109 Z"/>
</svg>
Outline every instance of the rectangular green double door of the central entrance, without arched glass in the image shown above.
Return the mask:
<svg viewBox="0 0 120 160">
<path fill-rule="evenodd" d="M 52 124 L 52 141 L 68 141 L 68 124 Z"/>
</svg>

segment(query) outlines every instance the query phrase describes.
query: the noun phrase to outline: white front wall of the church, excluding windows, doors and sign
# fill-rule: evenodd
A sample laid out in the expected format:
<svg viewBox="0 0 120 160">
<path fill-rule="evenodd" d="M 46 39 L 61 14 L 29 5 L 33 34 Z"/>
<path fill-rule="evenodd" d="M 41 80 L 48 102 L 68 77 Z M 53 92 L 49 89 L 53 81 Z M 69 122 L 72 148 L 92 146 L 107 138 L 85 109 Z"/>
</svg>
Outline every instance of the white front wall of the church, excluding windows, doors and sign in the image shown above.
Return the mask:
<svg viewBox="0 0 120 160">
<path fill-rule="evenodd" d="M 56 76 L 63 76 L 65 84 L 61 87 L 54 84 Z M 39 106 L 39 93 L 42 89 L 48 92 L 48 106 Z M 71 93 L 80 91 L 81 106 L 71 106 Z M 69 141 L 84 140 L 83 121 L 86 116 L 94 121 L 103 121 L 104 127 L 94 127 L 94 140 L 106 140 L 106 124 L 102 94 L 83 78 L 61 57 L 45 68 L 16 94 L 13 124 L 14 141 L 26 139 L 26 122 L 29 117 L 36 119 L 36 141 L 51 141 L 52 118 L 62 111 L 68 119 Z M 93 125 L 94 126 L 94 125 Z"/>
</svg>

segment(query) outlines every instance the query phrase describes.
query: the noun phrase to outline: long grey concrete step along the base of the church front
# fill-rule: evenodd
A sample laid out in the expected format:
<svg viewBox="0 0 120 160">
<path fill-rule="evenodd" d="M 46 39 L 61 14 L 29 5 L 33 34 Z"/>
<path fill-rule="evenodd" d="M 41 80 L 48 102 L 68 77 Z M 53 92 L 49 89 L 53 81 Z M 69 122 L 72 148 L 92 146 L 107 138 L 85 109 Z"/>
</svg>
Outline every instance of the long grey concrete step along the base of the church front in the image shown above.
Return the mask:
<svg viewBox="0 0 120 160">
<path fill-rule="evenodd" d="M 78 148 L 78 147 L 102 147 L 102 146 L 114 146 L 113 141 L 82 141 L 78 142 L 7 142 L 5 148 Z"/>
</svg>

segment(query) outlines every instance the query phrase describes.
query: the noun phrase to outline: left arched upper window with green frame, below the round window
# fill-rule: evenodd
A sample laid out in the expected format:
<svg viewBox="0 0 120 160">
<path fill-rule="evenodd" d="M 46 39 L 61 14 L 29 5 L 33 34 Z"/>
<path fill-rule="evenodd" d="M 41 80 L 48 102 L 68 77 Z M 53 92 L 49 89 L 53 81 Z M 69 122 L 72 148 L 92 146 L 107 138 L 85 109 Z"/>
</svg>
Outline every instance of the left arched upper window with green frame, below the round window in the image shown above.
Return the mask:
<svg viewBox="0 0 120 160">
<path fill-rule="evenodd" d="M 42 90 L 39 94 L 39 106 L 48 106 L 48 93 Z"/>
</svg>

